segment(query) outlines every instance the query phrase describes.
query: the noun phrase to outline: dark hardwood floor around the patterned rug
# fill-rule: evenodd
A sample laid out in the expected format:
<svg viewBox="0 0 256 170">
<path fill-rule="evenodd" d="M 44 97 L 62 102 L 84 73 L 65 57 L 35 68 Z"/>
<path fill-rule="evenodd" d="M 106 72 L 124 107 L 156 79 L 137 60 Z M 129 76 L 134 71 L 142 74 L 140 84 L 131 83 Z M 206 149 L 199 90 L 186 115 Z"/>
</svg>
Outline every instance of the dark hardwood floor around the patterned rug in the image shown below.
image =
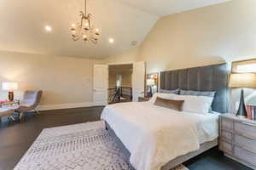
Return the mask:
<svg viewBox="0 0 256 170">
<path fill-rule="evenodd" d="M 28 114 L 22 122 L 0 122 L 0 170 L 11 170 L 42 129 L 100 119 L 102 107 L 43 111 L 41 115 Z M 225 157 L 218 148 L 208 150 L 184 163 L 190 170 L 249 170 Z"/>
</svg>

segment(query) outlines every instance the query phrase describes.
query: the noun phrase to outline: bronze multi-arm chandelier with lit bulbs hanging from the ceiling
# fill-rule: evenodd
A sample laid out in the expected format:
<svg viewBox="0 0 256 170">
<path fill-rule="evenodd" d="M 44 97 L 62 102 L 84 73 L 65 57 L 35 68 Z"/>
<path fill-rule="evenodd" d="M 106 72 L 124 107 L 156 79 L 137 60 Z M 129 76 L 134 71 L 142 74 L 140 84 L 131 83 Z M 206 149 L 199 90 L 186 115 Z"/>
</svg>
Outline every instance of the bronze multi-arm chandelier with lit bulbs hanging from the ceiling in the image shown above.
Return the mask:
<svg viewBox="0 0 256 170">
<path fill-rule="evenodd" d="M 86 0 L 84 0 L 84 12 L 79 12 L 80 21 L 77 24 L 73 24 L 71 28 L 72 38 L 74 41 L 82 39 L 84 42 L 96 43 L 100 36 L 100 30 L 91 25 L 92 15 L 87 14 L 86 8 Z"/>
</svg>

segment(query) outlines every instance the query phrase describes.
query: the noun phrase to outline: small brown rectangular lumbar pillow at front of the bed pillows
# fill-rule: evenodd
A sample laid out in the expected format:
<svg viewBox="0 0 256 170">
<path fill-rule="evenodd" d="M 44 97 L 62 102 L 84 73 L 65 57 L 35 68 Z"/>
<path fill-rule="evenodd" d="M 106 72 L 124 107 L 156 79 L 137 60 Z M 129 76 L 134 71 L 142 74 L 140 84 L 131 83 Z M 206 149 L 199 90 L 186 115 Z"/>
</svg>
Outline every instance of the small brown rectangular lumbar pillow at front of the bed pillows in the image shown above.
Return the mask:
<svg viewBox="0 0 256 170">
<path fill-rule="evenodd" d="M 160 107 L 166 107 L 168 109 L 172 109 L 175 111 L 182 111 L 183 103 L 184 103 L 184 100 L 162 99 L 160 97 L 157 97 L 155 99 L 154 105 L 158 105 Z"/>
</svg>

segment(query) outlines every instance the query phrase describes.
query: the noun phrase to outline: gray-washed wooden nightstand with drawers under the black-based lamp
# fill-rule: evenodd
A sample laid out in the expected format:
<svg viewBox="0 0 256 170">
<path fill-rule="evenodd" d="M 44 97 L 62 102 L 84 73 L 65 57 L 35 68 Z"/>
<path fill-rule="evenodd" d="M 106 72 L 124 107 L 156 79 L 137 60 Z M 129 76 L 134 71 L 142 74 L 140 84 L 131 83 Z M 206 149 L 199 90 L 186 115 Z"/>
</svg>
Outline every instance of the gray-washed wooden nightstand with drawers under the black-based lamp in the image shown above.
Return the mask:
<svg viewBox="0 0 256 170">
<path fill-rule="evenodd" d="M 256 122 L 224 114 L 220 117 L 219 150 L 247 167 L 256 169 Z"/>
</svg>

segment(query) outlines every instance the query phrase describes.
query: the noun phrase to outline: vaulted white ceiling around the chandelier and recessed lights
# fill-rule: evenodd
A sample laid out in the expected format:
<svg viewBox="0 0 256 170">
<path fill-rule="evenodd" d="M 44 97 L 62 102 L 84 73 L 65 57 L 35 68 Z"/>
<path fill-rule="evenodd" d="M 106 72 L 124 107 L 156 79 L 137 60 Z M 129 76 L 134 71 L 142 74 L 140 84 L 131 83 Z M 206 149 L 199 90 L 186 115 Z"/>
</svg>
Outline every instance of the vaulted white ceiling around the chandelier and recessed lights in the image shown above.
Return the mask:
<svg viewBox="0 0 256 170">
<path fill-rule="evenodd" d="M 142 42 L 160 16 L 229 0 L 87 1 L 94 26 L 102 31 L 97 45 L 70 38 L 69 28 L 79 20 L 84 0 L 2 0 L 0 50 L 104 58 L 133 48 L 132 41 Z M 44 30 L 46 25 L 52 32 Z"/>
</svg>

